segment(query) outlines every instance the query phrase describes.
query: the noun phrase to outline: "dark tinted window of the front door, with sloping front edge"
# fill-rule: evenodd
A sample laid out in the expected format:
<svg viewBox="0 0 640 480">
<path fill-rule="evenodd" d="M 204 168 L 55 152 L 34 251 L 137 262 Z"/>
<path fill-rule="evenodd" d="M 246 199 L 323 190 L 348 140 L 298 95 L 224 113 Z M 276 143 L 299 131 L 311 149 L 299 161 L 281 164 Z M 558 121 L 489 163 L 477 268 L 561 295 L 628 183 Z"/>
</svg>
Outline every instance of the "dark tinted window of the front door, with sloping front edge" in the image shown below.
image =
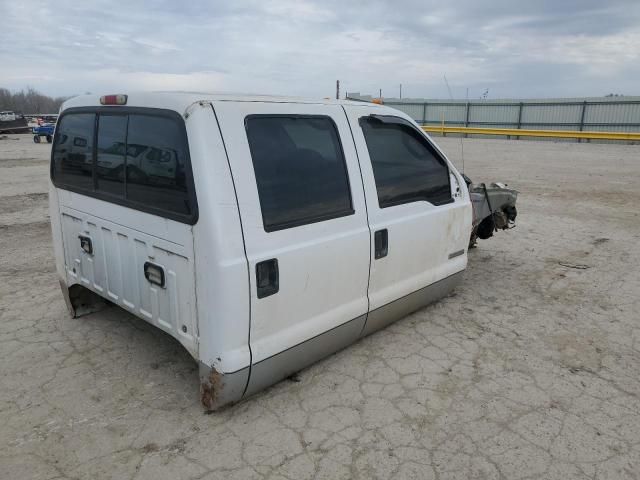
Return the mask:
<svg viewBox="0 0 640 480">
<path fill-rule="evenodd" d="M 429 142 L 413 127 L 360 119 L 367 142 L 381 208 L 426 200 L 450 202 L 449 169 Z"/>
</svg>

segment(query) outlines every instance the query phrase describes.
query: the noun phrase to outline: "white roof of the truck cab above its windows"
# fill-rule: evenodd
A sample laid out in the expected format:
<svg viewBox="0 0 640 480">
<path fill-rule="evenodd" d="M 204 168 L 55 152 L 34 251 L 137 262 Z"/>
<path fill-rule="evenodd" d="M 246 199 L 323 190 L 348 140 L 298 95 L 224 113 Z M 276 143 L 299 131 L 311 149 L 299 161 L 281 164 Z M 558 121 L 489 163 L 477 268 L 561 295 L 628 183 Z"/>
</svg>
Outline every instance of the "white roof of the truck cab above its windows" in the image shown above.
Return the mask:
<svg viewBox="0 0 640 480">
<path fill-rule="evenodd" d="M 354 100 L 335 100 L 328 98 L 303 98 L 285 97 L 275 95 L 243 95 L 243 94 L 222 94 L 203 92 L 111 92 L 107 94 L 127 95 L 127 106 L 166 108 L 177 112 L 184 112 L 190 105 L 205 102 L 273 102 L 273 103 L 307 103 L 321 105 L 367 105 L 378 106 L 373 103 L 366 103 Z M 104 95 L 104 94 L 103 94 Z M 99 107 L 100 94 L 79 95 L 73 97 L 62 105 L 60 111 L 72 107 Z M 381 106 L 382 107 L 382 106 Z"/>
</svg>

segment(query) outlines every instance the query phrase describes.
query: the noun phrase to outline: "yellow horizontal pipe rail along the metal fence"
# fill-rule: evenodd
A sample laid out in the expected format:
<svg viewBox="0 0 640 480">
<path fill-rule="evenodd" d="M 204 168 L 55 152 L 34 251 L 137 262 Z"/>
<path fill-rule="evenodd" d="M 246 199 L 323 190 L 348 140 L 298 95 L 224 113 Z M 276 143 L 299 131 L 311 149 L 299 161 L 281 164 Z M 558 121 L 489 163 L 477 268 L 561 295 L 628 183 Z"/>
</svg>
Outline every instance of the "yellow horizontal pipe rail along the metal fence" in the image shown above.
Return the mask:
<svg viewBox="0 0 640 480">
<path fill-rule="evenodd" d="M 513 137 L 585 138 L 588 140 L 640 141 L 640 132 L 580 132 L 577 130 L 526 130 L 519 128 L 476 128 L 444 125 L 423 126 L 429 133 L 464 133 L 469 135 L 506 135 Z"/>
</svg>

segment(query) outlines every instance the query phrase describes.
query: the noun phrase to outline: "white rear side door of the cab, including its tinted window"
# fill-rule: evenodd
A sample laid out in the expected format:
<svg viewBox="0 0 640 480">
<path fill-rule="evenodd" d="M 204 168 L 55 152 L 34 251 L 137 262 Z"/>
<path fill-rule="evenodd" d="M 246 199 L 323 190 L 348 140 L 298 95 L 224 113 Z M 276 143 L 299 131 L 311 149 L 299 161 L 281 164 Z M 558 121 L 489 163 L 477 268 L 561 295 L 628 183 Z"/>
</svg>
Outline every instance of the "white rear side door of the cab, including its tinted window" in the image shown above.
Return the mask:
<svg viewBox="0 0 640 480">
<path fill-rule="evenodd" d="M 216 102 L 249 263 L 247 394 L 355 341 L 370 232 L 338 105 Z"/>
</svg>

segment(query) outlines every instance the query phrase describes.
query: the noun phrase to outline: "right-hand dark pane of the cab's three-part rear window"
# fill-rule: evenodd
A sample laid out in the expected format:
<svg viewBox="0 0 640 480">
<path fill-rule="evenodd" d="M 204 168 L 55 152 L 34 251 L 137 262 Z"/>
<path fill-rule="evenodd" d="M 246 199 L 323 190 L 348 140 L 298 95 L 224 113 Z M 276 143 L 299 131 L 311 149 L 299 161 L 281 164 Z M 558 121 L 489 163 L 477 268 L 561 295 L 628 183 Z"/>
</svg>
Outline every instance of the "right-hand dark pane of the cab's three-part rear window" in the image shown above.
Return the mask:
<svg viewBox="0 0 640 480">
<path fill-rule="evenodd" d="M 190 214 L 186 161 L 186 142 L 178 123 L 163 117 L 129 115 L 129 200 Z"/>
</svg>

